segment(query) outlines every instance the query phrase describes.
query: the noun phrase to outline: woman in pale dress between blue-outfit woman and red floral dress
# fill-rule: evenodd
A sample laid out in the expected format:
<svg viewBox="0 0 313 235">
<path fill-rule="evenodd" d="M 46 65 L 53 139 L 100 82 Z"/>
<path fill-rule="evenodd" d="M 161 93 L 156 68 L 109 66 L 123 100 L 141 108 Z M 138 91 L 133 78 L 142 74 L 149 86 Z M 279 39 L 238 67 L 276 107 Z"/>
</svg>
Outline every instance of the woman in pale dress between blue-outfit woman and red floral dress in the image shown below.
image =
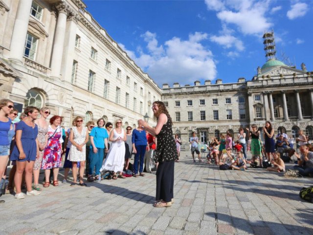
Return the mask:
<svg viewBox="0 0 313 235">
<path fill-rule="evenodd" d="M 46 121 L 46 118 L 50 115 L 50 110 L 47 107 L 43 107 L 40 109 L 40 118 L 36 119 L 34 122 L 38 126 L 38 143 L 39 143 L 39 153 L 40 156 L 35 160 L 33 174 L 34 174 L 34 185 L 33 189 L 40 191 L 41 188 L 39 188 L 39 173 L 41 164 L 43 162 L 43 156 L 44 156 L 44 150 L 45 146 L 47 145 L 47 139 L 46 135 L 48 132 L 48 122 Z M 48 179 L 49 180 L 49 179 Z"/>
</svg>

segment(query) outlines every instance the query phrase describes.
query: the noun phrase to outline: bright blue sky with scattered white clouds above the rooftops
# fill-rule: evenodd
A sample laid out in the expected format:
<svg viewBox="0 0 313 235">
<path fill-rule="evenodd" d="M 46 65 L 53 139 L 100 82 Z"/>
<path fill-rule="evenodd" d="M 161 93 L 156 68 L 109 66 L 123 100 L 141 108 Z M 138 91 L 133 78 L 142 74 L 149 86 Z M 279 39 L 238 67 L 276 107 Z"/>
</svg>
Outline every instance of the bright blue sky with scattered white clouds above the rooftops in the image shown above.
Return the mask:
<svg viewBox="0 0 313 235">
<path fill-rule="evenodd" d="M 85 0 L 87 10 L 161 87 L 195 80 L 251 80 L 266 62 L 262 35 L 275 33 L 276 57 L 313 71 L 313 1 Z"/>
</svg>

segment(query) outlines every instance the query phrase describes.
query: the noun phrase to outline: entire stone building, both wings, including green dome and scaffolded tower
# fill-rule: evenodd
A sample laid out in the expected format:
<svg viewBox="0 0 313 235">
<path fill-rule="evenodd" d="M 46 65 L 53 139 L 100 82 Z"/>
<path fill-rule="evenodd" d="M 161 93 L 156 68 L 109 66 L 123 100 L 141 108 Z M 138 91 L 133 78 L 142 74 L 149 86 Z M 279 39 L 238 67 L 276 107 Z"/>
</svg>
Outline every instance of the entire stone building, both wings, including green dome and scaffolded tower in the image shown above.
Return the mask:
<svg viewBox="0 0 313 235">
<path fill-rule="evenodd" d="M 268 61 L 251 80 L 160 89 L 147 73 L 85 10 L 82 0 L 0 0 L 0 97 L 22 112 L 47 106 L 70 126 L 121 118 L 135 126 L 162 100 L 184 143 L 192 131 L 201 142 L 227 130 L 271 120 L 288 134 L 299 128 L 313 139 L 313 72 L 275 59 L 273 39 L 265 38 Z"/>
</svg>

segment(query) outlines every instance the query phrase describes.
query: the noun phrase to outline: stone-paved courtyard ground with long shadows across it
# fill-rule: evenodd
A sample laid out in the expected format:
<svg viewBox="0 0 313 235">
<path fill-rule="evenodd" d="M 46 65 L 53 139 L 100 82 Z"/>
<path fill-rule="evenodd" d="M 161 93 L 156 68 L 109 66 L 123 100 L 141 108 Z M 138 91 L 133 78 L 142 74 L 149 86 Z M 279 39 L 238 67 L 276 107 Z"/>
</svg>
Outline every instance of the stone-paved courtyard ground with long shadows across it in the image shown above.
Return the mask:
<svg viewBox="0 0 313 235">
<path fill-rule="evenodd" d="M 189 152 L 182 152 L 175 164 L 170 208 L 152 206 L 155 174 L 88 187 L 59 183 L 22 200 L 2 196 L 0 234 L 313 234 L 313 204 L 298 195 L 312 179 L 284 178 L 263 169 L 222 171 L 193 163 Z"/>
</svg>

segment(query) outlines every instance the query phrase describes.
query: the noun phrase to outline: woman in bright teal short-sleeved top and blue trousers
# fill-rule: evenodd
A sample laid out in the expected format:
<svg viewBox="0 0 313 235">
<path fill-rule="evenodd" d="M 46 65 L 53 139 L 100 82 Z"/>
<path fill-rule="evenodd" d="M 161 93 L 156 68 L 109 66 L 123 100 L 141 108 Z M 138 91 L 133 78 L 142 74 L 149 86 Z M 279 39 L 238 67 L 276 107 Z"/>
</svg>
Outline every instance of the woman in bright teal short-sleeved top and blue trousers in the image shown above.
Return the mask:
<svg viewBox="0 0 313 235">
<path fill-rule="evenodd" d="M 95 169 L 96 180 L 101 178 L 100 168 L 102 166 L 104 149 L 108 151 L 108 132 L 104 128 L 105 121 L 103 118 L 98 119 L 97 127 L 92 128 L 90 132 L 90 152 L 89 152 L 89 172 L 88 181 L 92 182 L 94 179 L 92 177 L 93 169 Z"/>
</svg>

